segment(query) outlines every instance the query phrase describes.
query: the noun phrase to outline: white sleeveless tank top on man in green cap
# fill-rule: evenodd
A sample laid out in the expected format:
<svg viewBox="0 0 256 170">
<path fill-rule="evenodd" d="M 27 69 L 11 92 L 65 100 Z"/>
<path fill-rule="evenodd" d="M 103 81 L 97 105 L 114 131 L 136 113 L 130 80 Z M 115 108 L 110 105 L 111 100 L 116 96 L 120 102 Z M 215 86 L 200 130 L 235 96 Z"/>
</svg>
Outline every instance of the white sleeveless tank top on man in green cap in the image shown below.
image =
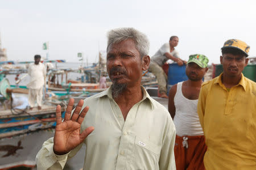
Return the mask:
<svg viewBox="0 0 256 170">
<path fill-rule="evenodd" d="M 174 96 L 174 105 L 176 108 L 174 116 L 174 124 L 176 127 L 176 134 L 180 137 L 204 135 L 203 129 L 197 114 L 196 100 L 189 100 L 183 96 L 181 86 L 183 82 L 177 83 L 177 91 Z"/>
</svg>

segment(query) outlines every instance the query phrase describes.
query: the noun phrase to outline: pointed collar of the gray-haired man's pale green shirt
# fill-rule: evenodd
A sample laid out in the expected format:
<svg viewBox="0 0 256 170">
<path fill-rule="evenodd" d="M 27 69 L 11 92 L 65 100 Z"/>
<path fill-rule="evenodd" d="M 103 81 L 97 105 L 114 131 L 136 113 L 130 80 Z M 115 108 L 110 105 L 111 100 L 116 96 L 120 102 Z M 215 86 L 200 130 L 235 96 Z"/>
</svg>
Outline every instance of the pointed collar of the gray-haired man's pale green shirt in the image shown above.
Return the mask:
<svg viewBox="0 0 256 170">
<path fill-rule="evenodd" d="M 155 109 L 156 105 L 154 103 L 154 99 L 152 99 L 152 97 L 150 97 L 150 95 L 148 94 L 148 92 L 146 91 L 146 89 L 143 86 L 141 86 L 141 88 L 142 88 L 142 91 L 143 91 L 143 97 L 142 97 L 142 100 L 139 101 L 139 102 L 143 102 L 143 101 L 148 100 L 150 102 L 150 104 L 151 104 L 151 108 Z M 109 99 L 113 99 L 113 96 L 112 96 L 112 86 L 110 86 L 107 90 L 102 91 L 101 94 L 99 94 L 97 97 L 101 98 L 101 97 L 104 97 L 104 96 L 108 96 Z"/>
</svg>

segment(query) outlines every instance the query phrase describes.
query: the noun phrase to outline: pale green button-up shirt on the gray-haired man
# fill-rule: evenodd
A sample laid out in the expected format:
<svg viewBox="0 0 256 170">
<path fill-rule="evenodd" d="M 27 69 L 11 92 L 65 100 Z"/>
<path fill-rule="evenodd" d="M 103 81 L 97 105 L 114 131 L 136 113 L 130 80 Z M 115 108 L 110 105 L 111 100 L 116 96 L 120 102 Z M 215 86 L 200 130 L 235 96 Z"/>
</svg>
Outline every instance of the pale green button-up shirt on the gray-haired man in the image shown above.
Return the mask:
<svg viewBox="0 0 256 170">
<path fill-rule="evenodd" d="M 167 109 L 142 89 L 143 99 L 130 109 L 126 121 L 111 88 L 85 99 L 89 111 L 81 131 L 89 126 L 95 129 L 84 140 L 84 169 L 176 169 L 174 123 Z M 36 155 L 37 168 L 63 169 L 81 146 L 57 156 L 50 138 Z"/>
</svg>

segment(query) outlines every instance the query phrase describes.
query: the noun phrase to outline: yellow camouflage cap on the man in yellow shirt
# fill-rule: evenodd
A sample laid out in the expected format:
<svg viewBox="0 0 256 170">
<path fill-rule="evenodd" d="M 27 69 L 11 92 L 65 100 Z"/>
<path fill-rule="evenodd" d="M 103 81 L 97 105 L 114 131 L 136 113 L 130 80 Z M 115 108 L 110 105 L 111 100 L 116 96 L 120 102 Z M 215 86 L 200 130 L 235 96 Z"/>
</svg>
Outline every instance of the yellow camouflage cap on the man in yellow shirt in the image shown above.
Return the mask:
<svg viewBox="0 0 256 170">
<path fill-rule="evenodd" d="M 250 50 L 250 46 L 241 40 L 230 39 L 226 41 L 221 49 L 226 49 L 226 48 L 234 48 L 234 49 L 241 50 L 243 53 L 245 53 L 246 57 L 249 56 L 248 53 Z"/>
</svg>

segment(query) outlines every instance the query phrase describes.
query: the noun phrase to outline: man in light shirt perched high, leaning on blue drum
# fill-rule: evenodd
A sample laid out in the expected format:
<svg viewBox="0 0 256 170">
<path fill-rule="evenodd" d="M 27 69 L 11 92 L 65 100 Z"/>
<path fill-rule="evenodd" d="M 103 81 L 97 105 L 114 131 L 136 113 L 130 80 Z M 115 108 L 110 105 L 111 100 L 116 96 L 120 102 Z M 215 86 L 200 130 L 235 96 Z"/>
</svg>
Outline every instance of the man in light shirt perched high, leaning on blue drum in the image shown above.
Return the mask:
<svg viewBox="0 0 256 170">
<path fill-rule="evenodd" d="M 180 59 L 179 53 L 175 49 L 179 42 L 179 38 L 177 36 L 171 36 L 170 41 L 166 44 L 162 45 L 161 48 L 155 53 L 154 56 L 151 57 L 150 66 L 148 71 L 153 73 L 158 80 L 158 89 L 160 97 L 168 98 L 167 96 L 167 75 L 163 71 L 163 65 L 168 60 L 176 62 L 177 65 L 182 66 L 187 62 Z"/>
</svg>

